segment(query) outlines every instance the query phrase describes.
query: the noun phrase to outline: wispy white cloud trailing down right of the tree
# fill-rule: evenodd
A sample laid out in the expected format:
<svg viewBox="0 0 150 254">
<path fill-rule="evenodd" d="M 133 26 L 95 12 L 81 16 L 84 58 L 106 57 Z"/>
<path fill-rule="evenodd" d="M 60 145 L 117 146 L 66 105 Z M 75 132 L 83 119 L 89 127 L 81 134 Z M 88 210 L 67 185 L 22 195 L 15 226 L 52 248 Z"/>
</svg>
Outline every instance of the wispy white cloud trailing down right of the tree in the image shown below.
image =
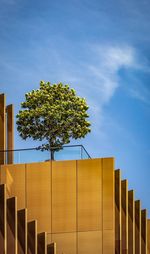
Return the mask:
<svg viewBox="0 0 150 254">
<path fill-rule="evenodd" d="M 111 102 L 117 89 L 122 86 L 120 70 L 124 69 L 126 72 L 133 71 L 133 73 L 134 71 L 149 73 L 150 69 L 146 61 L 140 62 L 138 52 L 132 46 L 94 45 L 90 47 L 90 57 L 90 61 L 85 64 L 84 81 L 86 84 L 90 83 L 88 87 L 90 92 L 88 92 L 87 99 L 91 110 L 91 122 L 93 123 L 92 132 L 93 136 L 99 136 L 100 140 L 108 144 L 108 133 L 106 135 L 105 131 L 108 129 L 108 118 L 105 116 L 105 105 Z M 128 91 L 128 96 L 147 103 L 149 95 L 147 90 L 144 88 L 142 89 L 140 82 L 138 82 L 138 85 L 137 82 L 133 83 L 134 84 L 130 82 L 130 85 L 125 84 L 125 90 Z M 90 96 L 90 94 L 92 96 Z M 123 127 L 120 127 L 120 123 L 117 123 L 115 119 L 109 117 L 109 125 L 110 121 L 114 130 L 119 129 L 119 132 L 121 132 L 123 136 L 131 140 L 132 135 Z"/>
</svg>

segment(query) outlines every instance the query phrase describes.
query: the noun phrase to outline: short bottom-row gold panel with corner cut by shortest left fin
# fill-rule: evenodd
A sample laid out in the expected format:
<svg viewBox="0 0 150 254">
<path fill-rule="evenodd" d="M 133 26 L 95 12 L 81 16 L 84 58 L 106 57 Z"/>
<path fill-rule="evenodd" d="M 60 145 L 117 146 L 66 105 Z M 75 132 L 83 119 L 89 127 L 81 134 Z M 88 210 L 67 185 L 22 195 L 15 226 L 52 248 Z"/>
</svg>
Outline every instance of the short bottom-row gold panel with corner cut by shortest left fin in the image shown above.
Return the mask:
<svg viewBox="0 0 150 254">
<path fill-rule="evenodd" d="M 52 242 L 56 242 L 57 254 L 76 254 L 76 233 L 52 234 Z"/>
</svg>

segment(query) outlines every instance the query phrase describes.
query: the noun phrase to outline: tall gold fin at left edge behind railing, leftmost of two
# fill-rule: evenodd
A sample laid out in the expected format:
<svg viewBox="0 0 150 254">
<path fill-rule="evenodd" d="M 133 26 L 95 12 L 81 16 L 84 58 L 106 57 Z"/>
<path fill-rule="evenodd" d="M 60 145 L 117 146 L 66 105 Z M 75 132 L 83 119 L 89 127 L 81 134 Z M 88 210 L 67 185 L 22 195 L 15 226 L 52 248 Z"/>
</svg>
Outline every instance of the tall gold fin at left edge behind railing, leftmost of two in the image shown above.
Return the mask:
<svg viewBox="0 0 150 254">
<path fill-rule="evenodd" d="M 0 151 L 6 150 L 6 97 L 0 94 Z M 6 154 L 0 152 L 0 165 L 5 164 Z"/>
</svg>

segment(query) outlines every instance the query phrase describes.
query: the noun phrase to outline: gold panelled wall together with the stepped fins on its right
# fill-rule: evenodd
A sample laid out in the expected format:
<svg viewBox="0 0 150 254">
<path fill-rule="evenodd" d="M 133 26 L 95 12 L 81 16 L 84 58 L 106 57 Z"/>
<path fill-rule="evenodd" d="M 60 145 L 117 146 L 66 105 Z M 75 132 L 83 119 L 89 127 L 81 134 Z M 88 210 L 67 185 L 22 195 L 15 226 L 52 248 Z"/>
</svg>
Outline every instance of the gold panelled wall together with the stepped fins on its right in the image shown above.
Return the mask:
<svg viewBox="0 0 150 254">
<path fill-rule="evenodd" d="M 148 254 L 150 223 L 113 158 L 2 165 L 0 183 L 57 254 Z"/>
</svg>

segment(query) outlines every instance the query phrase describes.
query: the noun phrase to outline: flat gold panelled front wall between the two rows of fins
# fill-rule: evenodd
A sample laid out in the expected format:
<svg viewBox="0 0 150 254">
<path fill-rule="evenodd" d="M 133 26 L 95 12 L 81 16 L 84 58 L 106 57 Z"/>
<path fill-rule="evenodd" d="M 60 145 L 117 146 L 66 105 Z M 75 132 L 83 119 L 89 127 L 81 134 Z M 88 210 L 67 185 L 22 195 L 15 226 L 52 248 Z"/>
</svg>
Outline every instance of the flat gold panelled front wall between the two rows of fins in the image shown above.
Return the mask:
<svg viewBox="0 0 150 254">
<path fill-rule="evenodd" d="M 115 253 L 113 158 L 3 165 L 0 182 L 58 254 Z"/>
</svg>

